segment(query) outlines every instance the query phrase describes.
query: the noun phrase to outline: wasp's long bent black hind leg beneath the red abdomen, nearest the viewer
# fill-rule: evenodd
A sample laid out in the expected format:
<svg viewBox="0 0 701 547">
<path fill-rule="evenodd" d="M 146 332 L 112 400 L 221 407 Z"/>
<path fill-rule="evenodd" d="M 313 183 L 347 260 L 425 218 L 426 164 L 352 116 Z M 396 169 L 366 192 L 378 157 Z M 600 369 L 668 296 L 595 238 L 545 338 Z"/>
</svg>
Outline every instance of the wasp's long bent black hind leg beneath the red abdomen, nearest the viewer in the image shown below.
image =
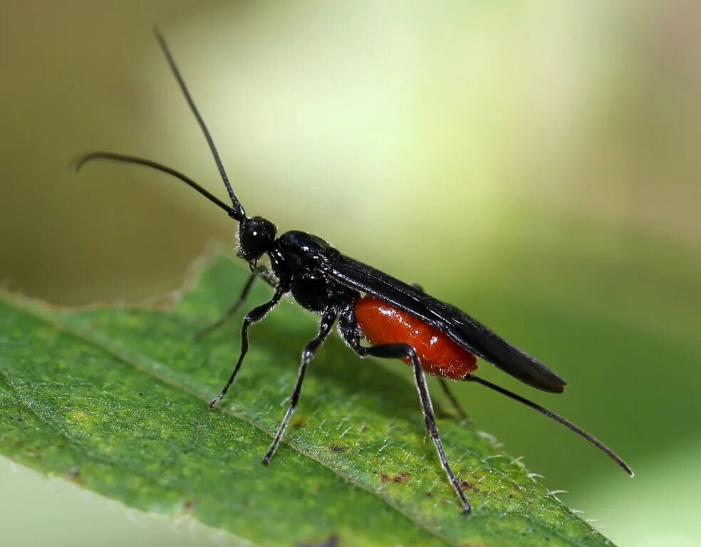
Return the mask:
<svg viewBox="0 0 701 547">
<path fill-rule="evenodd" d="M 360 357 L 372 355 L 373 357 L 383 359 L 408 358 L 411 361 L 411 368 L 414 371 L 414 381 L 416 384 L 416 390 L 419 393 L 419 400 L 421 402 L 421 410 L 423 411 L 424 420 L 426 422 L 426 429 L 428 434 L 430 434 L 433 443 L 436 445 L 436 451 L 438 452 L 441 467 L 445 471 L 445 474 L 447 475 L 453 489 L 455 489 L 457 497 L 460 499 L 462 511 L 464 514 L 468 514 L 470 511 L 472 511 L 472 509 L 469 505 L 469 501 L 467 501 L 467 497 L 460 487 L 459 481 L 450 468 L 447 457 L 445 457 L 443 443 L 440 440 L 438 427 L 436 425 L 436 418 L 433 413 L 431 396 L 428 392 L 428 386 L 426 385 L 426 376 L 424 375 L 423 368 L 421 367 L 421 361 L 419 356 L 416 354 L 416 350 L 409 344 L 382 344 L 371 345 L 369 347 L 360 345 L 360 336 L 358 335 L 357 328 L 355 328 L 355 319 L 350 316 L 348 312 L 343 314 L 341 322 L 338 325 L 338 330 L 341 333 L 343 340 L 346 340 L 346 343 L 350 345 L 350 348 L 353 348 L 355 353 L 358 353 Z"/>
</svg>

